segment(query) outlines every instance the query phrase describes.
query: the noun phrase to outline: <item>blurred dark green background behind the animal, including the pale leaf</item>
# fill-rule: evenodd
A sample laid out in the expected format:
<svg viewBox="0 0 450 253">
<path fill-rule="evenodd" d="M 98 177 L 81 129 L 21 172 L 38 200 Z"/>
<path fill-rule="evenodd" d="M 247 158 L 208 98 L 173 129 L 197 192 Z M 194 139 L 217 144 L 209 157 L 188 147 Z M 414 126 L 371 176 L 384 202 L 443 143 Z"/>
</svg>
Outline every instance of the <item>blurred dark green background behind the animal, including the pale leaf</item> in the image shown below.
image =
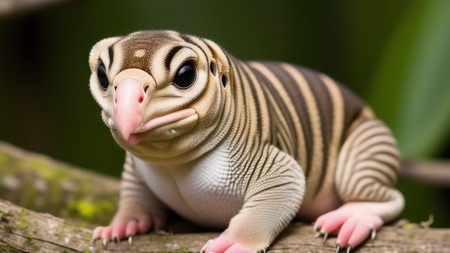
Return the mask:
<svg viewBox="0 0 450 253">
<path fill-rule="evenodd" d="M 174 29 L 243 60 L 325 72 L 374 107 L 405 158 L 450 157 L 450 1 L 60 2 L 0 19 L 0 140 L 118 176 L 123 152 L 90 95 L 88 53 L 105 37 Z M 402 218 L 450 227 L 450 185 L 399 187 Z"/>
</svg>

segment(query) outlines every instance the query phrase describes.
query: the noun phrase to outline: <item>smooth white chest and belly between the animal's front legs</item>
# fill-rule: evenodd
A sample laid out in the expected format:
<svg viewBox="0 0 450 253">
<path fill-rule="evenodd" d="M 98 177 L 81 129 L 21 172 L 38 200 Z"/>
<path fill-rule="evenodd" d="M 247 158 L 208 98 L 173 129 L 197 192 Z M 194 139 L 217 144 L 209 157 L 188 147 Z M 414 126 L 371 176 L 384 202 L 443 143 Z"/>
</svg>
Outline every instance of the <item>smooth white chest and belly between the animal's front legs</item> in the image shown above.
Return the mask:
<svg viewBox="0 0 450 253">
<path fill-rule="evenodd" d="M 145 183 L 168 207 L 199 225 L 225 228 L 243 205 L 233 184 L 226 149 L 216 148 L 200 161 L 171 167 L 135 158 Z"/>
</svg>

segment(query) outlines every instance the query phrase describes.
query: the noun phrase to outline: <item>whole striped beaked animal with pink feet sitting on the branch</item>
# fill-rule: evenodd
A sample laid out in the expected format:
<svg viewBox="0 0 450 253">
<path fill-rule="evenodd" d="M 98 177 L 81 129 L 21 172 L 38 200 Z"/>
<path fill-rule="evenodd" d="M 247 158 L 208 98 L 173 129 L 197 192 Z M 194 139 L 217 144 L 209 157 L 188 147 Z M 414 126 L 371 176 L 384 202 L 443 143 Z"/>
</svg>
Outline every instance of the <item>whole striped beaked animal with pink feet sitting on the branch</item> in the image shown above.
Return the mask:
<svg viewBox="0 0 450 253">
<path fill-rule="evenodd" d="M 265 251 L 294 218 L 349 252 L 403 209 L 390 130 L 324 74 L 174 31 L 104 39 L 89 63 L 126 151 L 119 209 L 94 240 L 162 229 L 170 208 L 226 228 L 202 252 Z"/>
</svg>

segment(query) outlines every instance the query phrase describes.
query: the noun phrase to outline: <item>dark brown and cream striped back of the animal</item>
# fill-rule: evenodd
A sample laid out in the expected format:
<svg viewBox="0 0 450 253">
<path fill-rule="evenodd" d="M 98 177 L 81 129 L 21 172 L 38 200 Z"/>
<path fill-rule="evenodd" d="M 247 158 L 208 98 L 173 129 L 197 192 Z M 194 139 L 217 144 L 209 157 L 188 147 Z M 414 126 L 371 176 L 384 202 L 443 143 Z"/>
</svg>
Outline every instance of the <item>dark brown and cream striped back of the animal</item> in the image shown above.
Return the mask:
<svg viewBox="0 0 450 253">
<path fill-rule="evenodd" d="M 234 110 L 247 108 L 255 125 L 245 131 L 293 156 L 305 172 L 307 192 L 318 194 L 333 180 L 345 137 L 373 117 L 371 110 L 345 87 L 309 69 L 276 62 L 233 64 Z"/>
</svg>

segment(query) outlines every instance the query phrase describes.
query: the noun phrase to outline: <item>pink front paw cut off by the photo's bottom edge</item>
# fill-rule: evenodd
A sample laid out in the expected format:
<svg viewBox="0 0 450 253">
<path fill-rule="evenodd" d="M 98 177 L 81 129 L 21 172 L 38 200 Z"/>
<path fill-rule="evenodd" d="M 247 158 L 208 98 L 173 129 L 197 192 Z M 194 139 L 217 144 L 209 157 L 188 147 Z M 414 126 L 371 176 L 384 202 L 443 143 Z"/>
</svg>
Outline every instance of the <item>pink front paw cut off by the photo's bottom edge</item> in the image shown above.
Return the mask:
<svg viewBox="0 0 450 253">
<path fill-rule="evenodd" d="M 242 244 L 233 242 L 228 238 L 226 232 L 219 237 L 206 242 L 205 246 L 200 251 L 201 253 L 252 253 L 250 248 Z"/>
</svg>

